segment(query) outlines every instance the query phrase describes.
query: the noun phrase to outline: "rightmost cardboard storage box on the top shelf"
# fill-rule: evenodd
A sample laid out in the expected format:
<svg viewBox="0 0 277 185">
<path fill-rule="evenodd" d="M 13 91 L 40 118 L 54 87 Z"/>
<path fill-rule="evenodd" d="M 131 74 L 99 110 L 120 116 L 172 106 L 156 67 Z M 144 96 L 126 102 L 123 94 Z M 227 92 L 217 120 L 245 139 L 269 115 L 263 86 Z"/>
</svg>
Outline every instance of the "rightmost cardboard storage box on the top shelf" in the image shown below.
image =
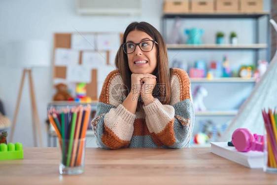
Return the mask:
<svg viewBox="0 0 277 185">
<path fill-rule="evenodd" d="M 241 0 L 241 12 L 254 13 L 263 11 L 263 0 Z"/>
</svg>

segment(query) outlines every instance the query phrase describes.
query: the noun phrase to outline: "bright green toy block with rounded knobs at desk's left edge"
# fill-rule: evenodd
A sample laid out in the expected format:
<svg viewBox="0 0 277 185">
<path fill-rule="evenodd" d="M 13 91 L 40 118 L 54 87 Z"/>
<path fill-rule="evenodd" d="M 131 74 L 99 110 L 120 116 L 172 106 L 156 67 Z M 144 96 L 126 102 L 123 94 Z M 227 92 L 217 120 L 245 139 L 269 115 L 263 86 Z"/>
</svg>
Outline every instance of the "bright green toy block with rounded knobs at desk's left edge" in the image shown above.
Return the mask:
<svg viewBox="0 0 277 185">
<path fill-rule="evenodd" d="M 0 160 L 23 159 L 24 151 L 22 143 L 0 144 Z"/>
</svg>

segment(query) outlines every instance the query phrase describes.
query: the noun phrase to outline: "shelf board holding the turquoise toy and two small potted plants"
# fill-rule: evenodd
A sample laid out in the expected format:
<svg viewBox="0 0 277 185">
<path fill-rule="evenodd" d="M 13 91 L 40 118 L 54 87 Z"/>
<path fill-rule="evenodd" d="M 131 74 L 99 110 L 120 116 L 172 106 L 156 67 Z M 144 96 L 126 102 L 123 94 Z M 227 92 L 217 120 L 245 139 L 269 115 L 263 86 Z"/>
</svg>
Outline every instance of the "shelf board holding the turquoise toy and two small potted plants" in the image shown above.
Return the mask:
<svg viewBox="0 0 277 185">
<path fill-rule="evenodd" d="M 267 49 L 267 44 L 167 44 L 168 49 Z"/>
</svg>

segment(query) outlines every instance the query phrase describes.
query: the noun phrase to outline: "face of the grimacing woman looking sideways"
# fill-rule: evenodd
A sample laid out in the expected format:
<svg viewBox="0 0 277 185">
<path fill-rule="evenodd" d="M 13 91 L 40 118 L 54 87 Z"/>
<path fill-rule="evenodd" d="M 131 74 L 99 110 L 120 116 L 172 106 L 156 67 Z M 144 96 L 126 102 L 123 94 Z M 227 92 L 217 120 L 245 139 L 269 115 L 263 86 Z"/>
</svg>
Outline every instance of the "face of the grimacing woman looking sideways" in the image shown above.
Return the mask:
<svg viewBox="0 0 277 185">
<path fill-rule="evenodd" d="M 145 32 L 137 31 L 137 30 L 130 32 L 126 37 L 126 42 L 138 43 L 143 40 L 153 40 L 153 38 L 150 37 Z M 144 45 L 145 44 L 146 43 L 144 43 Z M 127 56 L 128 56 L 128 65 L 132 73 L 152 74 L 157 66 L 157 45 L 156 43 L 154 43 L 153 49 L 148 52 L 142 51 L 137 45 L 135 48 L 135 51 L 131 54 L 127 54 Z"/>
</svg>

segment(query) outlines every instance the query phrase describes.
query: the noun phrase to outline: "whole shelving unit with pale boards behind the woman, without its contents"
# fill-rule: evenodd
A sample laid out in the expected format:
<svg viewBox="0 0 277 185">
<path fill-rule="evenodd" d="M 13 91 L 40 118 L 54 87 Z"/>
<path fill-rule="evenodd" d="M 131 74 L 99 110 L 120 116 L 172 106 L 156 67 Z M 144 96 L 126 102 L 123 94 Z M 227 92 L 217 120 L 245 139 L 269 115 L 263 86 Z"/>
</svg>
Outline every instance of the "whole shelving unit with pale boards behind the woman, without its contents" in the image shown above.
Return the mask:
<svg viewBox="0 0 277 185">
<path fill-rule="evenodd" d="M 260 57 L 260 51 L 261 52 L 266 52 L 266 60 L 270 61 L 270 29 L 269 29 L 269 19 L 270 19 L 270 13 L 269 12 L 259 12 L 259 13 L 186 13 L 186 14 L 164 14 L 162 16 L 162 34 L 165 37 L 165 40 L 167 39 L 167 21 L 171 21 L 173 19 L 179 18 L 180 20 L 188 20 L 192 19 L 194 21 L 201 20 L 203 22 L 203 19 L 209 20 L 209 19 L 226 19 L 226 21 L 230 20 L 245 20 L 249 19 L 253 21 L 253 27 L 249 27 L 249 32 L 253 31 L 253 41 L 250 43 L 238 43 L 238 44 L 213 44 L 213 43 L 205 43 L 205 44 L 200 44 L 200 45 L 193 45 L 193 44 L 167 44 L 167 49 L 169 51 L 177 51 L 179 52 L 192 52 L 195 53 L 195 51 L 232 51 L 232 53 L 235 52 L 241 52 L 246 51 L 248 53 L 253 53 L 253 65 L 257 64 L 257 61 L 261 58 Z M 260 39 L 260 30 L 261 30 L 261 25 L 259 22 L 261 21 L 266 21 L 267 24 L 265 25 L 265 28 L 263 28 L 265 34 L 265 41 L 261 41 Z M 187 21 L 189 22 L 189 21 Z M 172 23 L 172 21 L 171 21 Z M 170 24 L 169 24 L 170 25 Z M 189 28 L 189 25 L 186 25 L 187 28 Z M 220 26 L 219 26 L 220 27 Z M 207 27 L 206 27 L 207 29 Z M 212 36 L 213 37 L 213 36 Z M 260 43 L 262 42 L 262 43 Z M 194 58 L 194 57 L 192 57 Z M 186 60 L 189 60 L 189 58 L 186 58 Z M 239 61 L 238 61 L 239 62 Z M 232 65 L 232 63 L 230 63 Z M 221 83 L 224 83 L 224 86 L 230 86 L 234 85 L 236 87 L 238 86 L 251 86 L 255 84 L 255 79 L 254 78 L 241 78 L 241 77 L 219 77 L 219 78 L 190 78 L 190 81 L 192 85 L 204 85 L 204 86 L 209 86 L 211 83 L 217 83 L 217 84 L 211 84 L 216 86 L 215 91 L 220 91 L 219 85 Z M 226 84 L 227 83 L 227 84 Z M 237 83 L 242 83 L 237 84 Z M 229 86 L 229 87 L 230 87 Z M 210 87 L 210 86 L 209 86 Z M 248 89 L 248 88 L 247 88 Z M 212 89 L 213 90 L 213 89 Z M 226 93 L 226 89 L 223 89 L 224 93 Z M 211 93 L 212 94 L 212 93 Z M 224 96 L 224 95 L 223 95 Z M 238 96 L 238 94 L 235 94 L 235 96 Z M 213 100 L 215 100 L 214 97 L 212 97 Z M 221 97 L 218 97 L 218 101 L 223 101 L 220 99 Z M 226 101 L 228 102 L 228 101 Z M 230 103 L 230 101 L 229 101 Z M 216 104 L 216 102 L 215 102 Z M 222 103 L 221 103 L 222 105 Z M 233 104 L 234 106 L 235 104 Z M 216 107 L 216 106 L 213 106 Z M 216 108 L 215 108 L 216 109 Z M 238 107 L 230 107 L 230 109 L 238 109 Z M 224 109 L 225 110 L 225 109 Z M 209 117 L 210 120 L 220 120 L 220 119 L 229 119 L 230 117 L 235 116 L 238 113 L 238 110 L 228 110 L 227 106 L 227 111 L 199 111 L 195 112 L 195 115 L 197 118 L 202 119 L 202 117 Z M 197 122 L 195 123 L 197 124 Z M 193 145 L 192 147 L 210 147 L 210 144 L 204 144 L 204 145 Z"/>
</svg>

